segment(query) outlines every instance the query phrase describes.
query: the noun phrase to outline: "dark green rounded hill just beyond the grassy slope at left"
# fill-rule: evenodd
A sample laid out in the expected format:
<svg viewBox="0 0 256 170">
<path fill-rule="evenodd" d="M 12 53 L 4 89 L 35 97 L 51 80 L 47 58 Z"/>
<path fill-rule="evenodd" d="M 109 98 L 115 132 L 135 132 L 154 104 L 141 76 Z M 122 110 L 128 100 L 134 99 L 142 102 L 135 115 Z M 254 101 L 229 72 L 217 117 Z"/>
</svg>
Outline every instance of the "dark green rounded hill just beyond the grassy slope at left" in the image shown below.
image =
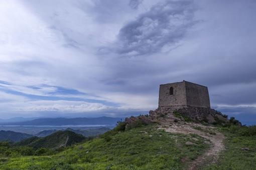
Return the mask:
<svg viewBox="0 0 256 170">
<path fill-rule="evenodd" d="M 46 137 L 33 136 L 16 143 L 16 146 L 30 146 L 35 149 L 45 148 L 58 148 L 62 146 L 69 146 L 73 143 L 81 142 L 86 139 L 83 135 L 77 134 L 73 131 L 64 130 L 56 131 Z"/>
</svg>

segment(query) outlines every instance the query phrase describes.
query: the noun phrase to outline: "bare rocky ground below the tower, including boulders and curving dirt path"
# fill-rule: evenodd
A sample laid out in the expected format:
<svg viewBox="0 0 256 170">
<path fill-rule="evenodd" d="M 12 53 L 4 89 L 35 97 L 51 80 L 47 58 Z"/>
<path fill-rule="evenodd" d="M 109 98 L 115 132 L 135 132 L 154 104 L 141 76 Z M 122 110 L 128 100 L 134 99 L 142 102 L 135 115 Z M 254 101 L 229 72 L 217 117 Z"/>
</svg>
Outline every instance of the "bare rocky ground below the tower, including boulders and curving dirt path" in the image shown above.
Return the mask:
<svg viewBox="0 0 256 170">
<path fill-rule="evenodd" d="M 152 114 L 151 112 L 149 116 L 132 116 L 130 118 L 125 119 L 125 129 L 136 127 L 141 123 L 150 124 L 153 122 L 159 124 L 159 129 L 164 129 L 171 133 L 197 134 L 205 138 L 204 142 L 210 144 L 210 148 L 206 150 L 202 155 L 200 155 L 199 157 L 190 162 L 186 162 L 187 167 L 190 170 L 198 169 L 199 167 L 205 165 L 206 163 L 215 163 L 218 160 L 220 151 L 224 149 L 224 135 L 217 131 L 215 126 L 209 123 L 205 123 L 204 125 L 191 119 L 187 121 L 186 117 L 182 116 L 181 114 Z M 193 143 L 193 141 L 188 141 L 186 144 L 189 145 L 195 143 Z"/>
</svg>

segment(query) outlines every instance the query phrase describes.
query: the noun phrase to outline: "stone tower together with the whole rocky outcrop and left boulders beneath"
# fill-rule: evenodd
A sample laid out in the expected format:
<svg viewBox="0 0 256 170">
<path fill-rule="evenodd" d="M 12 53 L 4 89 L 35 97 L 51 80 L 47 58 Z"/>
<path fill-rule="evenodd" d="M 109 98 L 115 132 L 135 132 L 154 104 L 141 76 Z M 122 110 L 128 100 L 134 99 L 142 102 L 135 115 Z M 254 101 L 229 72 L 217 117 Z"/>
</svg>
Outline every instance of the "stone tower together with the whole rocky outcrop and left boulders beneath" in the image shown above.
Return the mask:
<svg viewBox="0 0 256 170">
<path fill-rule="evenodd" d="M 193 82 L 181 81 L 161 84 L 158 108 L 149 111 L 149 116 L 125 118 L 125 129 L 136 127 L 138 121 L 144 124 L 204 122 L 224 124 L 227 116 L 210 106 L 208 88 Z"/>
</svg>

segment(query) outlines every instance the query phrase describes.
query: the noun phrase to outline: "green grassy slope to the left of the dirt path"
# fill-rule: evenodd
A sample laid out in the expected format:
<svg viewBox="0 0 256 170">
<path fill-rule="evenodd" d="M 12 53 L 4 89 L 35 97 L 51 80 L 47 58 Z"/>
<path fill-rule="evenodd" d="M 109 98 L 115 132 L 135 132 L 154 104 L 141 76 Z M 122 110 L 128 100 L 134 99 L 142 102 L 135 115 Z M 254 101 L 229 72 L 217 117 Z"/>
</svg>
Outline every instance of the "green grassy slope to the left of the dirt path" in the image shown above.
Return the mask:
<svg viewBox="0 0 256 170">
<path fill-rule="evenodd" d="M 157 125 L 107 132 L 50 156 L 0 158 L 0 169 L 183 169 L 206 148 L 198 135 L 172 134 Z M 109 137 L 106 137 L 109 136 Z M 186 145 L 186 141 L 196 145 Z"/>
</svg>

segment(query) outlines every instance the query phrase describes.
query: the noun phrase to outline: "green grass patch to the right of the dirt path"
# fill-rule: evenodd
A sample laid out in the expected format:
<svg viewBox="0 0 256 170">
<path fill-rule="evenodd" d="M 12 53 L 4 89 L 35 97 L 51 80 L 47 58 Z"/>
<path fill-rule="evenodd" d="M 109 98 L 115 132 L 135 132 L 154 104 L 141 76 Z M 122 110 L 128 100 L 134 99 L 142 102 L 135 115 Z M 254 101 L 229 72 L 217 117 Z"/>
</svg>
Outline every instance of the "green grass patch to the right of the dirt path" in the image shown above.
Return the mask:
<svg viewBox="0 0 256 170">
<path fill-rule="evenodd" d="M 221 152 L 216 164 L 203 169 L 256 169 L 256 126 L 230 126 L 221 128 L 221 131 L 226 136 L 226 149 Z M 242 150 L 244 147 L 249 150 Z"/>
</svg>

